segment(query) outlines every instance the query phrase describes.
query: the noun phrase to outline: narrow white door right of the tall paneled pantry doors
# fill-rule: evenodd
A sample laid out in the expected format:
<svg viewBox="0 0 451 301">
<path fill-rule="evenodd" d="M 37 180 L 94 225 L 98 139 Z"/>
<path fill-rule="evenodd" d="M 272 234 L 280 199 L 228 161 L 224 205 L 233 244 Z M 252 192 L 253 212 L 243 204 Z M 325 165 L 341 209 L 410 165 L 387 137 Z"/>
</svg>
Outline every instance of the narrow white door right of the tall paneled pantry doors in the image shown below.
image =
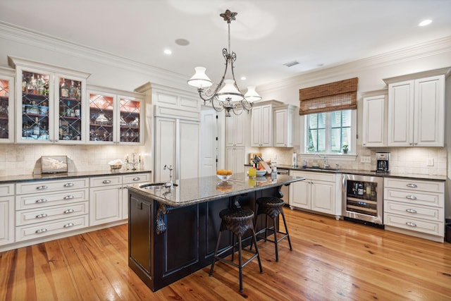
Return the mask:
<svg viewBox="0 0 451 301">
<path fill-rule="evenodd" d="M 201 111 L 200 121 L 200 176 L 214 176 L 216 174 L 216 149 L 218 148 L 217 113 L 212 110 Z"/>
</svg>

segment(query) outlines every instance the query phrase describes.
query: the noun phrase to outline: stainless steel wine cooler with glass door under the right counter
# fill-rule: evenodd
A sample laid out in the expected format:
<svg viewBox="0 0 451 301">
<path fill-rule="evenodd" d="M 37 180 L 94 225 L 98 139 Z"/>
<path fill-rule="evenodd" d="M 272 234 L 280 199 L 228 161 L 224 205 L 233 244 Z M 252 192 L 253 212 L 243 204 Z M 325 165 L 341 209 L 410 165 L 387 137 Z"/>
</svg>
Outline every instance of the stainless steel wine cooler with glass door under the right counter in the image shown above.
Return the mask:
<svg viewBox="0 0 451 301">
<path fill-rule="evenodd" d="M 383 178 L 342 175 L 342 216 L 373 226 L 383 225 Z"/>
</svg>

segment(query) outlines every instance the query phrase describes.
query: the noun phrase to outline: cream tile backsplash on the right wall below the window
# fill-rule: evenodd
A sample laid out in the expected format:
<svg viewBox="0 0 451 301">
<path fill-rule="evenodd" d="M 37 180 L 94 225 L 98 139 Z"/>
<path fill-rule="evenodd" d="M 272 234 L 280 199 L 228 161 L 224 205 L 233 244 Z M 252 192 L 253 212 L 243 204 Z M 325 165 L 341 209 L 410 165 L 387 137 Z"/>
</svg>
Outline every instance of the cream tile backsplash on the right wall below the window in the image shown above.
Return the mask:
<svg viewBox="0 0 451 301">
<path fill-rule="evenodd" d="M 277 156 L 278 164 L 291 165 L 292 148 L 283 147 L 265 147 L 255 149 L 255 152 L 261 152 L 264 159 Z M 359 169 L 364 171 L 373 171 L 376 169 L 376 152 L 390 152 L 390 171 L 393 173 L 421 174 L 431 176 L 447 176 L 447 150 L 445 147 L 406 147 L 390 149 L 369 149 L 359 147 L 358 156 L 355 160 L 340 159 L 336 157 L 328 158 L 328 164 L 333 168 L 339 164 L 342 169 Z M 370 156 L 371 164 L 361 163 L 361 156 Z M 311 156 L 303 157 L 297 154 L 297 166 L 302 166 L 304 159 L 307 159 L 309 165 L 317 163 L 322 165 L 322 159 Z M 433 166 L 428 166 L 428 159 L 432 159 Z"/>
</svg>

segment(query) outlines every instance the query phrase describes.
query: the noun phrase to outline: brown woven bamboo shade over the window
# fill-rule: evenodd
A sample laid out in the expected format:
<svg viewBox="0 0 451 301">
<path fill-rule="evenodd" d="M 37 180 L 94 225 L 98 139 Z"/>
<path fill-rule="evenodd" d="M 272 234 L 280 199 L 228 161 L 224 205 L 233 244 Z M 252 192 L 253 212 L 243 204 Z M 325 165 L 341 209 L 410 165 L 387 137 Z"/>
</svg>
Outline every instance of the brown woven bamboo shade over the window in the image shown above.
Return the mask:
<svg viewBox="0 0 451 301">
<path fill-rule="evenodd" d="M 359 78 L 299 89 L 299 115 L 357 109 Z"/>
</svg>

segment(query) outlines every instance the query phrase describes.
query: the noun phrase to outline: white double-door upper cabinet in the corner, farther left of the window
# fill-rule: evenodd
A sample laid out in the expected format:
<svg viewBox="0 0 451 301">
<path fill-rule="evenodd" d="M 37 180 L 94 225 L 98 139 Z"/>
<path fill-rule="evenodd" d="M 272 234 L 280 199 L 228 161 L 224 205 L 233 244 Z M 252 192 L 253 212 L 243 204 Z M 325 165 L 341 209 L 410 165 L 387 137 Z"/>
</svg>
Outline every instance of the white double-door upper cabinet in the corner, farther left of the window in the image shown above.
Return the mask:
<svg viewBox="0 0 451 301">
<path fill-rule="evenodd" d="M 273 105 L 264 104 L 252 108 L 251 146 L 273 146 Z"/>
</svg>

